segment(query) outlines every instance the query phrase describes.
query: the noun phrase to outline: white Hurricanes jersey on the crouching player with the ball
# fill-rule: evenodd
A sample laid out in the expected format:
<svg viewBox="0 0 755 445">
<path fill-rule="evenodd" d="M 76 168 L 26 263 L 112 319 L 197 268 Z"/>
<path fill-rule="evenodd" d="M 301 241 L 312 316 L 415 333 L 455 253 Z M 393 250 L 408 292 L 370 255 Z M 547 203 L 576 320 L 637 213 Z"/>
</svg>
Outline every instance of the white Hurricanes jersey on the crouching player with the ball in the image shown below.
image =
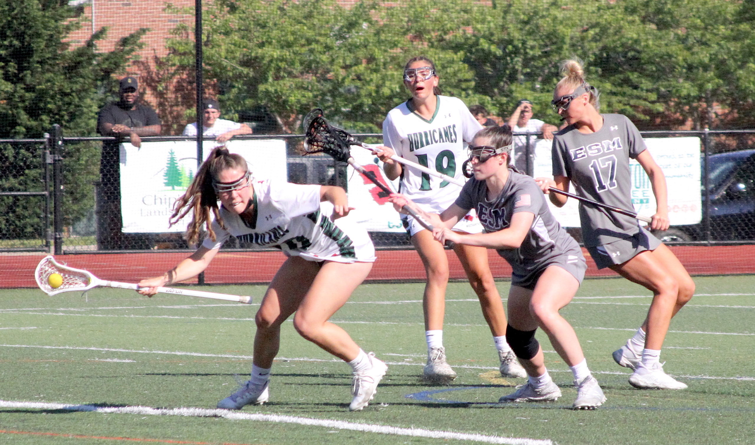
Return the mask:
<svg viewBox="0 0 755 445">
<path fill-rule="evenodd" d="M 226 228 L 213 221 L 217 241 L 206 238 L 203 247 L 218 249 L 234 236 L 310 261 L 374 262 L 374 246 L 367 231 L 350 216 L 332 220 L 333 204 L 320 202 L 320 186 L 270 179 L 254 180 L 252 185 L 251 222 L 220 206 Z"/>
</svg>

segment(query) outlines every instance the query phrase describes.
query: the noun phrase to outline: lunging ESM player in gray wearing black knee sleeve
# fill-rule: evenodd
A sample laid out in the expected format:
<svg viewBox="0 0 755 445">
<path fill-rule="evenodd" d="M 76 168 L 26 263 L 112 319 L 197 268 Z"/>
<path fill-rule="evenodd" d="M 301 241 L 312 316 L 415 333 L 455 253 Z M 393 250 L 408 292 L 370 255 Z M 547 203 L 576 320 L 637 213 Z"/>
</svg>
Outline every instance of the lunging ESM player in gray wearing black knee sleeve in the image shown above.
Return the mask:
<svg viewBox="0 0 755 445">
<path fill-rule="evenodd" d="M 574 374 L 577 399 L 573 407 L 599 407 L 606 397 L 587 367 L 572 325 L 559 314 L 574 298 L 587 270 L 582 251 L 550 213 L 535 180 L 510 166 L 513 143 L 507 124 L 480 130 L 470 149 L 473 179 L 440 215 L 423 212 L 403 195 L 392 195 L 391 201 L 397 210 L 409 205 L 429 219 L 435 226 L 433 237 L 441 243 L 495 249 L 511 265 L 506 339 L 529 379 L 513 394 L 501 397 L 501 402 L 556 401 L 561 397 L 535 339 L 535 330 L 541 327 Z M 485 232 L 451 230 L 472 208 Z"/>
</svg>

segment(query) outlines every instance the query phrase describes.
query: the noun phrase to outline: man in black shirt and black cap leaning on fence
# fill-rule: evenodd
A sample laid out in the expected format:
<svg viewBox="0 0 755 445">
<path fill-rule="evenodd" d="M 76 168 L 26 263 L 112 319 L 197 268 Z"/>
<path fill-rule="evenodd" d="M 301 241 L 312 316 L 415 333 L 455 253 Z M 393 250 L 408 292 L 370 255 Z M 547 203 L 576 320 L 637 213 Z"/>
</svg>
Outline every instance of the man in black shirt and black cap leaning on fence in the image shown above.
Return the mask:
<svg viewBox="0 0 755 445">
<path fill-rule="evenodd" d="M 120 99 L 100 109 L 97 133 L 112 136 L 102 144 L 100 186 L 97 188 L 97 244 L 100 249 L 119 249 L 121 234 L 120 144 L 127 138 L 141 147 L 142 136 L 157 136 L 162 122 L 155 110 L 139 100 L 139 84 L 134 77 L 122 78 Z"/>
</svg>

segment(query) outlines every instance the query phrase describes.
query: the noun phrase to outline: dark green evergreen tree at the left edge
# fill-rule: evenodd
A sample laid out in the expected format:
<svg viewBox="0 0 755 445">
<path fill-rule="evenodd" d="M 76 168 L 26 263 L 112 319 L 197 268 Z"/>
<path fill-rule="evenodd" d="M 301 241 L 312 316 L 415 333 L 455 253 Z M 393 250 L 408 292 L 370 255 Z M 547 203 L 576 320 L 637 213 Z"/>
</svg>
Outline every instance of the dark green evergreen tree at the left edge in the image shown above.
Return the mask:
<svg viewBox="0 0 755 445">
<path fill-rule="evenodd" d="M 120 41 L 109 53 L 97 51 L 106 30 L 79 48 L 66 35 L 79 26 L 63 0 L 0 1 L 0 138 L 41 138 L 60 124 L 66 135 L 93 135 L 97 110 L 106 100 L 109 78 L 122 71 L 146 30 Z M 82 143 L 63 154 L 66 225 L 94 207 L 100 148 Z M 39 144 L 0 145 L 0 189 L 42 190 Z M 0 238 L 39 237 L 41 207 L 25 198 L 0 198 Z"/>
</svg>

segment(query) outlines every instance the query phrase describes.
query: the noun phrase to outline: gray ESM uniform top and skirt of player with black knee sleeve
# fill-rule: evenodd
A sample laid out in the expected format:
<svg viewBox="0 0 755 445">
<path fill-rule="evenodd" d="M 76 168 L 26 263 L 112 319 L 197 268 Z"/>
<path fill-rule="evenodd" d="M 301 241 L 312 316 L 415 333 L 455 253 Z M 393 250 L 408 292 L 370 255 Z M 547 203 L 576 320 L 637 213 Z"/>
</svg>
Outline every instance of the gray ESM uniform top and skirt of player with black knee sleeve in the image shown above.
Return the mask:
<svg viewBox="0 0 755 445">
<path fill-rule="evenodd" d="M 487 194 L 485 181 L 473 178 L 464 185 L 455 202 L 463 209 L 475 208 L 487 233 L 507 229 L 514 213 L 535 214 L 521 246 L 498 249 L 498 254 L 511 265 L 514 275 L 529 275 L 557 256 L 568 255 L 567 262 L 584 261 L 579 244 L 550 213 L 545 195 L 531 176 L 509 170 L 509 179 L 501 194 L 491 201 L 488 201 Z"/>
</svg>

